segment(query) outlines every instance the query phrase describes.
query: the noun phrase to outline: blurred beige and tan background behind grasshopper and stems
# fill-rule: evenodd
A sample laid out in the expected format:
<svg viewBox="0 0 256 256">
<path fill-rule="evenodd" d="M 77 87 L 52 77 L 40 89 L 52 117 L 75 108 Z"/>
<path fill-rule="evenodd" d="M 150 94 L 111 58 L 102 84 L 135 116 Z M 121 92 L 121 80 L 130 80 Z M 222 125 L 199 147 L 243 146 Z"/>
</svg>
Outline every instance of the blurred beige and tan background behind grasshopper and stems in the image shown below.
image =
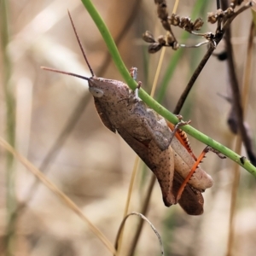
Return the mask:
<svg viewBox="0 0 256 256">
<path fill-rule="evenodd" d="M 138 80 L 150 92 L 160 52 L 149 55 L 143 42 L 146 30 L 155 37 L 165 34 L 157 18 L 154 1 L 94 0 L 127 68 L 138 68 Z M 136 154 L 122 140 L 102 125 L 87 82 L 40 69 L 41 66 L 90 76 L 74 36 L 67 9 L 79 33 L 90 65 L 99 77 L 122 80 L 108 55 L 108 49 L 90 15 L 79 1 L 8 1 L 1 2 L 1 137 L 15 143 L 15 148 L 37 166 L 49 180 L 68 195 L 112 242 L 123 218 L 125 201 Z M 174 1 L 167 1 L 169 14 Z M 200 8 L 198 8 L 200 7 Z M 177 14 L 201 17 L 216 9 L 215 1 L 181 1 Z M 196 15 L 195 15 L 196 14 Z M 4 15 L 8 22 L 4 23 Z M 251 11 L 242 13 L 232 23 L 232 44 L 236 75 L 242 84 L 251 26 Z M 9 28 L 9 38 L 7 37 Z M 202 32 L 215 30 L 207 24 Z M 198 44 L 203 38 L 174 29 L 182 44 Z M 255 43 L 255 40 L 254 40 Z M 216 52 L 224 50 L 224 42 Z M 207 46 L 179 49 L 172 73 L 167 67 L 177 55 L 166 49 L 159 84 L 167 76 L 168 89 L 163 105 L 171 111 Z M 255 55 L 255 50 L 253 52 Z M 253 60 L 255 67 L 255 59 Z M 255 71 L 255 68 L 253 68 Z M 250 79 L 245 119 L 254 142 L 256 117 L 254 109 L 255 75 Z M 160 85 L 159 85 L 160 86 Z M 156 95 L 158 90 L 156 91 Z M 220 96 L 221 95 L 221 96 Z M 199 131 L 234 149 L 236 136 L 230 132 L 227 119 L 231 105 L 230 78 L 226 61 L 211 57 L 183 107 L 184 119 L 191 119 Z M 15 122 L 14 122 L 15 121 Z M 196 155 L 205 145 L 190 138 Z M 255 145 L 255 144 L 254 144 Z M 0 148 L 0 232 L 1 253 L 6 255 L 111 255 L 80 218 L 42 183 L 33 186 L 35 177 Z M 241 153 L 246 155 L 244 151 Z M 151 172 L 140 165 L 129 212 L 139 212 L 147 191 Z M 205 212 L 193 217 L 182 208 L 166 208 L 160 187 L 155 183 L 147 213 L 160 232 L 166 255 L 225 255 L 230 222 L 230 198 L 235 164 L 207 154 L 201 164 L 214 179 L 214 185 L 203 194 Z M 256 241 L 255 178 L 241 169 L 237 190 L 234 247 L 232 255 L 253 255 Z M 20 211 L 15 207 L 26 202 Z M 13 214 L 11 214 L 13 213 Z M 9 219 L 12 216 L 13 220 Z M 138 218 L 128 219 L 122 255 L 126 255 L 137 227 Z M 15 236 L 8 234 L 14 225 Z M 15 239 L 7 246 L 10 236 Z M 159 255 L 160 246 L 154 232 L 145 224 L 138 241 L 137 254 Z"/>
</svg>

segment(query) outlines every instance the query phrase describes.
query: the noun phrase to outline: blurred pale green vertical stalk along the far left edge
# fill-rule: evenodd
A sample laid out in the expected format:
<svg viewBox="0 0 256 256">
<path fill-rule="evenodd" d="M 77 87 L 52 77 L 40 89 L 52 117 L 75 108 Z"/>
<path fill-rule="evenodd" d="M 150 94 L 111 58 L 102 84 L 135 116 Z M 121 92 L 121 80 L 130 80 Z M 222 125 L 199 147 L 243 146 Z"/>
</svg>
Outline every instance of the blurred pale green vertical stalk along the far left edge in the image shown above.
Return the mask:
<svg viewBox="0 0 256 256">
<path fill-rule="evenodd" d="M 12 67 L 8 54 L 9 44 L 9 9 L 8 1 L 1 1 L 1 45 L 3 52 L 3 91 L 6 108 L 6 137 L 8 142 L 15 146 L 15 96 L 10 83 Z M 15 168 L 14 157 L 6 154 L 6 209 L 7 209 L 7 229 L 5 235 L 6 255 L 14 255 L 15 249 L 15 224 L 16 224 L 16 197 L 15 197 Z"/>
</svg>

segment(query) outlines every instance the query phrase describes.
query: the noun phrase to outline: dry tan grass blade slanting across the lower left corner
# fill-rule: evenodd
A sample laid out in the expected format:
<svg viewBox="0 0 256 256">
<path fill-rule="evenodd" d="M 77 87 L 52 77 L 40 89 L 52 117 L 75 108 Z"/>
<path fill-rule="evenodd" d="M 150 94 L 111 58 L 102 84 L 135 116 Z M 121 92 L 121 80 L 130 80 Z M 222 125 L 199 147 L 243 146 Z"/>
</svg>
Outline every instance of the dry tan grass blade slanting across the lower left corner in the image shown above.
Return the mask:
<svg viewBox="0 0 256 256">
<path fill-rule="evenodd" d="M 108 238 L 102 234 L 100 230 L 96 228 L 94 224 L 90 222 L 90 220 L 84 215 L 84 212 L 82 212 L 79 207 L 65 195 L 61 192 L 60 189 L 58 189 L 54 183 L 51 183 L 47 177 L 44 176 L 42 172 L 38 170 L 36 166 L 33 166 L 32 163 L 26 158 L 24 158 L 21 154 L 19 154 L 17 151 L 15 151 L 15 148 L 11 147 L 9 143 L 7 143 L 2 137 L 0 137 L 0 145 L 9 151 L 9 153 L 13 154 L 17 160 L 20 161 L 20 163 L 27 168 L 30 172 L 32 172 L 38 179 L 44 183 L 44 185 L 47 186 L 48 189 L 50 189 L 52 192 L 57 195 L 61 201 L 63 201 L 67 207 L 73 210 L 79 218 L 82 218 L 84 222 L 86 222 L 90 228 L 90 230 L 103 242 L 103 244 L 108 248 L 108 250 L 115 254 L 115 249 L 110 241 L 108 241 Z"/>
</svg>

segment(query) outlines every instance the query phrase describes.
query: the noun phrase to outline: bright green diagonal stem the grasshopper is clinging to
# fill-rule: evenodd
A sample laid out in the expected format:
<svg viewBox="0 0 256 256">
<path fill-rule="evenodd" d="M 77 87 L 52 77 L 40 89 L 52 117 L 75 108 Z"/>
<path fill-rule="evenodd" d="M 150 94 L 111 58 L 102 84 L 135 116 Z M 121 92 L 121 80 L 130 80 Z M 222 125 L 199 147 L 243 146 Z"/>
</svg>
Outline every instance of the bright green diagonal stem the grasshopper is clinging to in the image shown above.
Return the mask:
<svg viewBox="0 0 256 256">
<path fill-rule="evenodd" d="M 123 76 L 125 82 L 129 85 L 131 90 L 135 90 L 137 87 L 137 83 L 131 78 L 130 73 L 126 69 L 124 62 L 119 55 L 119 51 L 113 42 L 113 38 L 108 31 L 108 27 L 105 25 L 102 17 L 98 14 L 90 0 L 82 0 L 82 2 L 84 3 L 84 7 L 89 12 L 91 18 L 96 23 L 99 31 L 101 32 L 102 38 L 104 38 L 104 41 L 108 46 L 110 55 L 112 55 L 113 61 L 115 63 L 115 66 L 118 68 L 119 73 Z M 144 90 L 139 90 L 139 96 L 143 100 L 143 102 L 148 105 L 149 108 L 153 108 L 157 113 L 170 121 L 172 124 L 177 124 L 177 117 L 173 113 L 169 112 L 166 108 L 161 106 L 158 102 L 154 101 L 154 99 L 148 96 L 148 94 Z M 201 143 L 205 143 L 212 148 L 217 149 L 220 153 L 230 158 L 230 160 L 235 161 L 238 165 L 245 168 L 247 172 L 252 173 L 253 176 L 256 177 L 256 167 L 253 166 L 249 160 L 241 161 L 241 155 L 236 154 L 234 151 L 230 150 L 230 148 L 224 147 L 224 145 L 222 145 L 221 143 L 214 141 L 211 137 L 207 137 L 207 135 L 201 133 L 201 131 L 197 131 L 190 125 L 184 125 L 182 127 L 182 130 L 186 131 L 190 136 L 195 137 L 195 139 L 201 141 Z"/>
</svg>

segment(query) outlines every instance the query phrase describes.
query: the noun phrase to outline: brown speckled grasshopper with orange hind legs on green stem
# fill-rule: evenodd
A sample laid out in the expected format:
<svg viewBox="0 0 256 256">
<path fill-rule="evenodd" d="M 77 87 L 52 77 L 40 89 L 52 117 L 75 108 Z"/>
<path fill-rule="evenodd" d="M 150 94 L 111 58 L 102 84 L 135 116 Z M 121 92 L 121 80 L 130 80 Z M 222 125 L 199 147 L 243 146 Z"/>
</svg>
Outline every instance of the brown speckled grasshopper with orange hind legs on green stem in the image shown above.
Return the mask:
<svg viewBox="0 0 256 256">
<path fill-rule="evenodd" d="M 139 86 L 132 91 L 121 81 L 96 77 L 84 54 L 71 15 L 68 15 L 92 76 L 86 78 L 49 67 L 42 68 L 87 80 L 102 123 L 110 131 L 117 131 L 154 172 L 166 207 L 178 202 L 188 214 L 201 214 L 204 203 L 201 192 L 212 187 L 212 177 L 198 166 L 202 157 L 196 160 L 185 132 L 178 129 L 178 125 L 167 123 L 139 99 Z"/>
</svg>

